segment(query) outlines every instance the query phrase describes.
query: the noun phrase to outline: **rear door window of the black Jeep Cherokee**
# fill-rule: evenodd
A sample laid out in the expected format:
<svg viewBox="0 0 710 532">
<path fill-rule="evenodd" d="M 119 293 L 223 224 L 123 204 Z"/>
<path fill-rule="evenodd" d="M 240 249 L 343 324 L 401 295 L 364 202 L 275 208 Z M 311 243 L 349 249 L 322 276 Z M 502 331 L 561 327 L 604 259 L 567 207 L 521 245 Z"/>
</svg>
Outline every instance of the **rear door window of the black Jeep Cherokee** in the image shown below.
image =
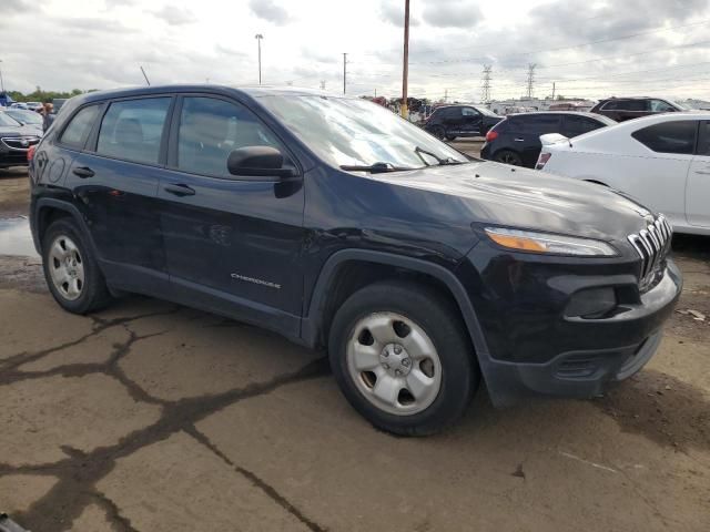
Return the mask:
<svg viewBox="0 0 710 532">
<path fill-rule="evenodd" d="M 158 164 L 170 102 L 170 96 L 113 102 L 101 123 L 97 153 Z"/>
</svg>

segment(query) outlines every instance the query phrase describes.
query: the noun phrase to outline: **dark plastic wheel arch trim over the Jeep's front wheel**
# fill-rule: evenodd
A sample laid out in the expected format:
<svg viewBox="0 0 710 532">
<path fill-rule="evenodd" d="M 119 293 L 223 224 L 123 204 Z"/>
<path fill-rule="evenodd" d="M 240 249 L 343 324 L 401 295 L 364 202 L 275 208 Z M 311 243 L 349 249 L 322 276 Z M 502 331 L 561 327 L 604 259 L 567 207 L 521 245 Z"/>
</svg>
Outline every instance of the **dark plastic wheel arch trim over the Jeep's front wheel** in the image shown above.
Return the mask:
<svg viewBox="0 0 710 532">
<path fill-rule="evenodd" d="M 369 283 L 383 280 L 383 272 L 398 274 L 395 278 L 402 278 L 402 275 L 409 275 L 415 278 L 417 276 L 419 278 L 426 276 L 427 279 L 432 279 L 435 286 L 443 289 L 445 295 L 452 298 L 460 311 L 479 360 L 481 356 L 488 356 L 487 344 L 476 310 L 464 286 L 453 272 L 444 266 L 419 258 L 368 249 L 343 249 L 334 253 L 326 260 L 314 285 L 310 301 L 304 301 L 301 336 L 306 345 L 312 347 L 325 345 L 324 340 L 327 337 L 329 321 L 336 310 L 336 308 L 333 308 L 333 301 L 344 300 L 342 293 L 338 294 L 338 279 L 342 278 L 343 274 L 348 273 L 347 268 L 352 267 L 352 265 L 359 265 L 361 268 L 372 268 L 372 280 L 367 279 Z M 346 278 L 354 278 L 354 276 Z M 355 289 L 369 284 L 366 282 L 358 285 L 357 280 L 354 283 L 356 285 Z M 346 289 L 345 293 L 347 294 L 347 291 Z"/>
</svg>

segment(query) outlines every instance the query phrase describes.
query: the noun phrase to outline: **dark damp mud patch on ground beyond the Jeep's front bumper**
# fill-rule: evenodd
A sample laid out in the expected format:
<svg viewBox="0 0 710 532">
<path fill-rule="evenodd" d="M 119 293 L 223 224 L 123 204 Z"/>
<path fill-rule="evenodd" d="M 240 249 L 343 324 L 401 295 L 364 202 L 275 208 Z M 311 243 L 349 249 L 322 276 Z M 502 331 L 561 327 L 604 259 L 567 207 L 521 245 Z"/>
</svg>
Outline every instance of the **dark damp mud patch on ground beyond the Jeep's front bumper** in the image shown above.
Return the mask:
<svg viewBox="0 0 710 532">
<path fill-rule="evenodd" d="M 670 375 L 643 370 L 594 403 L 627 432 L 679 450 L 710 450 L 710 399 Z"/>
</svg>

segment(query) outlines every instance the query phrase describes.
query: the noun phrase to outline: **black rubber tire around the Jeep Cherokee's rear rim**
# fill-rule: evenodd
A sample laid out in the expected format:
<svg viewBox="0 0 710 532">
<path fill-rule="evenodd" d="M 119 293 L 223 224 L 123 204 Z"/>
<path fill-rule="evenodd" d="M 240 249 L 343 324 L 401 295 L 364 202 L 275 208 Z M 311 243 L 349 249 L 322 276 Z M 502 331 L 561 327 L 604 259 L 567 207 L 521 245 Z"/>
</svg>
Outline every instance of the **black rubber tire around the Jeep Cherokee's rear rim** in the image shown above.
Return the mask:
<svg viewBox="0 0 710 532">
<path fill-rule="evenodd" d="M 55 262 L 51 255 L 51 247 L 62 237 L 69 238 L 75 245 L 83 268 L 81 289 L 79 296 L 74 299 L 65 297 L 52 279 L 51 268 Z M 88 314 L 105 307 L 111 301 L 111 295 L 93 250 L 87 244 L 81 231 L 77 228 L 70 218 L 60 218 L 53 222 L 44 232 L 42 237 L 42 265 L 47 286 L 64 310 L 73 314 Z"/>
</svg>

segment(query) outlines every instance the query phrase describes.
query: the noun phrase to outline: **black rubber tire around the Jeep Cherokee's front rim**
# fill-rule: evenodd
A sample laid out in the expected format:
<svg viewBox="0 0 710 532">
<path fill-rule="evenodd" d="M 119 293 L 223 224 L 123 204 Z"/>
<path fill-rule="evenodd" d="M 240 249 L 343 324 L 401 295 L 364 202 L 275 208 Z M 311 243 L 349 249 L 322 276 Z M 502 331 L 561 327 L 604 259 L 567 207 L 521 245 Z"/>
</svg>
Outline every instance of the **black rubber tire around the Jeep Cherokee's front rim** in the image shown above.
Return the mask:
<svg viewBox="0 0 710 532">
<path fill-rule="evenodd" d="M 348 341 L 354 341 L 357 324 L 374 313 L 396 313 L 408 318 L 426 332 L 437 351 L 440 387 L 423 411 L 395 415 L 377 408 L 358 389 L 348 370 Z M 355 410 L 376 428 L 399 436 L 432 434 L 454 423 L 465 412 L 479 381 L 478 365 L 458 308 L 437 290 L 409 282 L 375 283 L 352 295 L 335 314 L 328 357 L 335 380 Z"/>
</svg>

